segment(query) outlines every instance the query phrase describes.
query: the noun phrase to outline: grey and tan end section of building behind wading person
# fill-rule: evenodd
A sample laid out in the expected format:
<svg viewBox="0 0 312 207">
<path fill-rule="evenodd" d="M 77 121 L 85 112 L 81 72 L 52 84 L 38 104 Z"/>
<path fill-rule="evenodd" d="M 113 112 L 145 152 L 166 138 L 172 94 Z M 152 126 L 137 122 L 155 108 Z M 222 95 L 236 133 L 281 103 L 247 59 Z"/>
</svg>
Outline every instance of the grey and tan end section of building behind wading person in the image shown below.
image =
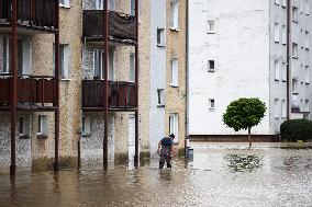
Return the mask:
<svg viewBox="0 0 312 207">
<path fill-rule="evenodd" d="M 176 152 L 186 137 L 185 0 L 151 1 L 151 153 L 159 140 L 175 134 Z"/>
</svg>

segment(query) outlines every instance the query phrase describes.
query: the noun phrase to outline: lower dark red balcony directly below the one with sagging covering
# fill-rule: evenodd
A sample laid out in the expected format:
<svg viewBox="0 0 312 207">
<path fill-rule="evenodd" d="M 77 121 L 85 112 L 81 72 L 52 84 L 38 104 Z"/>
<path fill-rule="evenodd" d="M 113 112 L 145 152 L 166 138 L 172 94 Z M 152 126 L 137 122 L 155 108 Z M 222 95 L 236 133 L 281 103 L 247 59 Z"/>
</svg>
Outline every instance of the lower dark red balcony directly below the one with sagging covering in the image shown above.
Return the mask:
<svg viewBox="0 0 312 207">
<path fill-rule="evenodd" d="M 104 80 L 82 80 L 82 110 L 104 110 Z M 136 84 L 109 81 L 108 97 L 110 110 L 134 110 L 137 107 Z"/>
</svg>

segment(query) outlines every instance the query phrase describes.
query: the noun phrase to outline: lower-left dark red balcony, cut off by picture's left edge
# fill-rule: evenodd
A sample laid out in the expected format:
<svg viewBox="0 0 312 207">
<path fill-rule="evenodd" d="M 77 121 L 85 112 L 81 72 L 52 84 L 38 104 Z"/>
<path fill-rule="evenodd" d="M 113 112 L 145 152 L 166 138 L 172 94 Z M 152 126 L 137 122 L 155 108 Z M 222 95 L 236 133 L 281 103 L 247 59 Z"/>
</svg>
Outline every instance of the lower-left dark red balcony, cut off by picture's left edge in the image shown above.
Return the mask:
<svg viewBox="0 0 312 207">
<path fill-rule="evenodd" d="M 0 110 L 9 110 L 11 105 L 12 77 L 0 77 Z M 19 110 L 53 110 L 56 104 L 56 81 L 54 77 L 19 77 Z"/>
</svg>

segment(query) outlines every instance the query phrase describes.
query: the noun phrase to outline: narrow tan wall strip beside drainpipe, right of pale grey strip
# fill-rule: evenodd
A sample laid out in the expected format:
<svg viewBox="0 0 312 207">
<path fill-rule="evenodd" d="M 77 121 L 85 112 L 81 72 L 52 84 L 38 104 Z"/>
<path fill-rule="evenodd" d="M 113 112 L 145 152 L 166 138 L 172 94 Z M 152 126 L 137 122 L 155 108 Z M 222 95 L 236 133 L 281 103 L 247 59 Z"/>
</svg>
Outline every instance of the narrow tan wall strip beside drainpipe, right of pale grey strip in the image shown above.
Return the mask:
<svg viewBox="0 0 312 207">
<path fill-rule="evenodd" d="M 167 44 L 166 44 L 166 106 L 165 106 L 165 133 L 169 136 L 169 114 L 178 114 L 178 138 L 175 141 L 177 149 L 185 147 L 186 138 L 186 9 L 187 1 L 179 0 L 179 27 L 178 31 L 171 30 L 171 2 L 167 2 Z M 178 85 L 170 87 L 171 82 L 171 60 L 178 59 Z M 177 137 L 177 135 L 176 135 Z"/>
</svg>

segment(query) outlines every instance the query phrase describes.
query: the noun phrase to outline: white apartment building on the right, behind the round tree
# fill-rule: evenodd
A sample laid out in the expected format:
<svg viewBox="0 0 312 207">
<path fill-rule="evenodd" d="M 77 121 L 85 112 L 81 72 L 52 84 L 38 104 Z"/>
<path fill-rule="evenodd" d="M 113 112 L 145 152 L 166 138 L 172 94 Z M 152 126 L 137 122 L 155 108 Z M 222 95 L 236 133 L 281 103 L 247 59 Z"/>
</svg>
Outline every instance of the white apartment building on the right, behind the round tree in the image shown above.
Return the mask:
<svg viewBox="0 0 312 207">
<path fill-rule="evenodd" d="M 267 105 L 258 136 L 279 134 L 287 118 L 311 118 L 311 1 L 189 2 L 189 135 L 246 135 L 222 122 L 230 102 Z M 226 7 L 225 7 L 226 5 Z"/>
</svg>

